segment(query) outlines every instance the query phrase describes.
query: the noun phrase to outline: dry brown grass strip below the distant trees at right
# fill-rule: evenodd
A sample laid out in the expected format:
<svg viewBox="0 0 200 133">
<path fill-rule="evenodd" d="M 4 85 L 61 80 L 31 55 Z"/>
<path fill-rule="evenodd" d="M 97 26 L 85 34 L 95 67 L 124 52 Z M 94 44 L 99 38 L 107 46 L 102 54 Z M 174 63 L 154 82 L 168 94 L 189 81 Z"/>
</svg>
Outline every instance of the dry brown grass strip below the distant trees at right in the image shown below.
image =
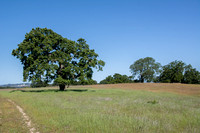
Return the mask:
<svg viewBox="0 0 200 133">
<path fill-rule="evenodd" d="M 79 86 L 80 88 L 81 86 Z M 200 96 L 200 85 L 179 84 L 179 83 L 125 83 L 125 84 L 106 84 L 85 86 L 98 89 L 131 89 L 148 90 L 153 92 L 172 92 L 184 95 Z"/>
</svg>

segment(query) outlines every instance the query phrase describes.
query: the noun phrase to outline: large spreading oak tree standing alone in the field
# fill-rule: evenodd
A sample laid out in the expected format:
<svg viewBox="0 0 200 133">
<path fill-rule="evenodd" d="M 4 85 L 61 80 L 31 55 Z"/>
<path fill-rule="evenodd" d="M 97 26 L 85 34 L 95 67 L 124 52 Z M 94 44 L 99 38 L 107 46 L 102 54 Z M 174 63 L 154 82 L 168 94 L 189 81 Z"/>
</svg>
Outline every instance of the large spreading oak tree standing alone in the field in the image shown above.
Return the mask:
<svg viewBox="0 0 200 133">
<path fill-rule="evenodd" d="M 47 28 L 32 29 L 12 55 L 23 64 L 24 81 L 48 83 L 54 80 L 60 90 L 73 81 L 91 79 L 92 68 L 102 70 L 105 65 L 84 39 L 71 41 Z"/>
</svg>

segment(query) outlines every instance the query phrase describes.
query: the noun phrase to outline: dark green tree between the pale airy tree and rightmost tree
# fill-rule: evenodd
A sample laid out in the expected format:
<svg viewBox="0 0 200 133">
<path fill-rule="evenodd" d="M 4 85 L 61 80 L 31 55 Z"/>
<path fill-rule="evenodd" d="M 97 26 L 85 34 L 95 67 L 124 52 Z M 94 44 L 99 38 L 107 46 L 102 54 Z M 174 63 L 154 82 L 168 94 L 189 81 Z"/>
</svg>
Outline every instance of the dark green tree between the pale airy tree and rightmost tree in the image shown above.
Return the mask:
<svg viewBox="0 0 200 133">
<path fill-rule="evenodd" d="M 168 65 L 163 66 L 163 71 L 160 74 L 161 82 L 180 83 L 183 80 L 183 72 L 185 63 L 182 61 L 173 61 Z"/>
</svg>

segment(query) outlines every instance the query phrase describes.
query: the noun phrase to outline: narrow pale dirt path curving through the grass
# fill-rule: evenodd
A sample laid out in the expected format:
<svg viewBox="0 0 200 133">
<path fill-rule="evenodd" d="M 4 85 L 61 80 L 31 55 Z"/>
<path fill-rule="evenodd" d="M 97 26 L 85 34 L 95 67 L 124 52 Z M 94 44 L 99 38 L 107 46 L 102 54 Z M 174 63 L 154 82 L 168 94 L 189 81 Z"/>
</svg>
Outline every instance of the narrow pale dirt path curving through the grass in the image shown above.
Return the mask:
<svg viewBox="0 0 200 133">
<path fill-rule="evenodd" d="M 24 110 L 19 105 L 17 105 L 15 102 L 13 102 L 12 100 L 8 99 L 8 101 L 10 103 L 12 103 L 13 105 L 15 105 L 16 108 L 18 109 L 18 111 L 22 114 L 23 120 L 26 123 L 26 126 L 28 127 L 30 133 L 39 133 L 39 132 L 36 131 L 36 129 L 31 124 L 31 120 L 28 117 L 28 115 L 24 112 Z"/>
</svg>

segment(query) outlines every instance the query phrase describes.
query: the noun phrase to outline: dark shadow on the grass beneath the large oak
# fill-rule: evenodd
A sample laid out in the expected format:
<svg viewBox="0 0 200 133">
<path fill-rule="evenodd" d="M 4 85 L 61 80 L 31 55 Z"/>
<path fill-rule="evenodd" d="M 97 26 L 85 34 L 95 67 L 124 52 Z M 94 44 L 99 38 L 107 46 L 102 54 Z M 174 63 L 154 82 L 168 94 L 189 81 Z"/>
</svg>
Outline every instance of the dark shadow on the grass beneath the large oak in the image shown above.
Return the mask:
<svg viewBox="0 0 200 133">
<path fill-rule="evenodd" d="M 20 92 L 86 92 L 86 91 L 90 91 L 90 92 L 95 92 L 95 90 L 88 90 L 88 89 L 66 89 L 64 91 L 60 91 L 60 90 L 56 90 L 56 89 L 43 89 L 43 90 L 12 90 L 10 91 L 10 93 L 12 92 L 16 92 L 16 91 L 20 91 Z"/>
</svg>

